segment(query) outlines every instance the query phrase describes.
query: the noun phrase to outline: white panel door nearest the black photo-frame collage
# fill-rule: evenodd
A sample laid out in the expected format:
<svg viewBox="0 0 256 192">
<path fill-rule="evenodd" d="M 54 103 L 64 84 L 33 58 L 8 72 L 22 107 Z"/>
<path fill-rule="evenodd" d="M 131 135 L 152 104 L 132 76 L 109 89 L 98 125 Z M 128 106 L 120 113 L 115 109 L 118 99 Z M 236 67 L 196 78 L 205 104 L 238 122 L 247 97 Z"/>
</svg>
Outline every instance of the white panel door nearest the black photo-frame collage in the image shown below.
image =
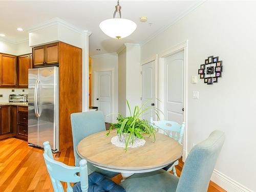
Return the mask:
<svg viewBox="0 0 256 192">
<path fill-rule="evenodd" d="M 184 51 L 164 58 L 165 119 L 183 122 L 184 111 Z"/>
</svg>

